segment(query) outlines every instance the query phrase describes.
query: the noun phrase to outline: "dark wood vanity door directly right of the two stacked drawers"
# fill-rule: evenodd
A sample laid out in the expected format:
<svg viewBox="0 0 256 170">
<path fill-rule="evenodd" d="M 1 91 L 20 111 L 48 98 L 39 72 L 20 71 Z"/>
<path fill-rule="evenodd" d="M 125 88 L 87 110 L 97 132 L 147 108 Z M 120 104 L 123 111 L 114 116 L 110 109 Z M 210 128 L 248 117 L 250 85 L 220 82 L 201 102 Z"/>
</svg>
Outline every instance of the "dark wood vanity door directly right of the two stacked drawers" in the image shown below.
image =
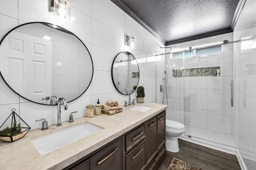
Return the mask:
<svg viewBox="0 0 256 170">
<path fill-rule="evenodd" d="M 157 117 L 146 122 L 146 160 L 157 151 Z"/>
</svg>

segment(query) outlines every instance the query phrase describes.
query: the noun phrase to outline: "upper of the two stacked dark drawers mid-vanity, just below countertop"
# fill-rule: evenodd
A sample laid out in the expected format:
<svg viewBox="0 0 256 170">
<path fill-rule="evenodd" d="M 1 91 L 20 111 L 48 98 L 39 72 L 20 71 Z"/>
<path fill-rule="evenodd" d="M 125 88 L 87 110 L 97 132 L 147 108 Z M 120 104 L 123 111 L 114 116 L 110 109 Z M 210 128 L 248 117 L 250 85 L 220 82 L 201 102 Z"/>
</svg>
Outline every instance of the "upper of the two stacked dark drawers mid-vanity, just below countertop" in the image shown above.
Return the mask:
<svg viewBox="0 0 256 170">
<path fill-rule="evenodd" d="M 140 126 L 138 129 L 132 131 L 125 136 L 125 150 L 132 149 L 133 146 L 140 143 L 145 138 L 145 125 Z"/>
</svg>

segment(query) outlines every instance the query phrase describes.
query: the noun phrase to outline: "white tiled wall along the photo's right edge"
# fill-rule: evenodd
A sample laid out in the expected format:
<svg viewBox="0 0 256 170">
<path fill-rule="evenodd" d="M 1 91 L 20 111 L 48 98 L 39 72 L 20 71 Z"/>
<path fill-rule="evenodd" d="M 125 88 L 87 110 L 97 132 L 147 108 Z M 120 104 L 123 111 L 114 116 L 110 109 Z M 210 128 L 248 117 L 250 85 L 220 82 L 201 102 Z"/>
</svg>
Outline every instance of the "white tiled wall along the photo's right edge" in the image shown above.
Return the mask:
<svg viewBox="0 0 256 170">
<path fill-rule="evenodd" d="M 247 0 L 236 23 L 233 39 L 256 36 L 256 1 Z M 234 107 L 232 136 L 247 169 L 256 169 L 256 41 L 233 44 Z"/>
</svg>

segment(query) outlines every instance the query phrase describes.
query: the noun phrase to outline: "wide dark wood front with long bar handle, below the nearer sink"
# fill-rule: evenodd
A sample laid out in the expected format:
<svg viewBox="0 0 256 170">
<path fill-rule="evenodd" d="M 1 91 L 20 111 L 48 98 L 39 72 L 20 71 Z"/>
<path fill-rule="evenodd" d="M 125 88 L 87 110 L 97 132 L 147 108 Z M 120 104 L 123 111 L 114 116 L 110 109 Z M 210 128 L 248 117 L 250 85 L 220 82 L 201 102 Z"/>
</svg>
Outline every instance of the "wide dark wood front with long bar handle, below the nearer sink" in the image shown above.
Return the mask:
<svg viewBox="0 0 256 170">
<path fill-rule="evenodd" d="M 122 138 L 90 158 L 92 170 L 120 170 L 123 162 Z"/>
</svg>

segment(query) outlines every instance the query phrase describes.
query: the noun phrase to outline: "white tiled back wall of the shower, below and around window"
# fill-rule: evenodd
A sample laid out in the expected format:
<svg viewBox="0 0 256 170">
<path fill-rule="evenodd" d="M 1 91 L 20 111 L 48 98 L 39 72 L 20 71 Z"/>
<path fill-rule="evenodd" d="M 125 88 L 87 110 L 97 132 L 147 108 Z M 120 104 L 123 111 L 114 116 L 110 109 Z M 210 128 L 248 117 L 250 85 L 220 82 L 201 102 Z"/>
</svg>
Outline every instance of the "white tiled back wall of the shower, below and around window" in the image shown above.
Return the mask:
<svg viewBox="0 0 256 170">
<path fill-rule="evenodd" d="M 177 48 L 232 41 L 232 33 L 175 44 Z M 174 77 L 174 69 L 220 67 L 220 76 Z M 186 125 L 186 135 L 234 147 L 230 103 L 232 45 L 223 53 L 171 59 L 166 55 L 168 75 L 167 119 Z M 222 140 L 220 140 L 222 139 Z"/>
</svg>

